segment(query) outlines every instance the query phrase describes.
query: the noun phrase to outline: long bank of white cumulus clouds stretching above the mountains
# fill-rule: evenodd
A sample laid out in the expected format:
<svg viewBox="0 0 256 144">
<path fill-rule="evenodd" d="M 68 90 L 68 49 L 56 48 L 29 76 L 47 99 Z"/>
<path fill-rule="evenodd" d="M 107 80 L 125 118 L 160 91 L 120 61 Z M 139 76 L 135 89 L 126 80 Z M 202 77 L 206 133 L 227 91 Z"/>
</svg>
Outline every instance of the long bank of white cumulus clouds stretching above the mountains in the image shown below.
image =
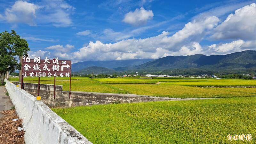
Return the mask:
<svg viewBox="0 0 256 144">
<path fill-rule="evenodd" d="M 200 45 L 200 42 L 204 40 L 212 33 L 222 33 L 221 36 L 228 38 L 229 32 L 234 32 L 233 29 L 235 24 L 240 24 L 241 19 L 239 15 L 244 15 L 245 10 L 247 10 L 248 17 L 246 20 L 251 20 L 253 16 L 251 13 L 254 12 L 255 4 L 244 6 L 241 9 L 236 10 L 235 14 L 231 14 L 227 17 L 225 21 L 220 23 L 220 20 L 216 16 L 206 16 L 199 17 L 185 24 L 185 26 L 171 35 L 167 31 L 163 31 L 157 36 L 152 36 L 143 39 L 126 39 L 129 38 L 131 33 L 123 34 L 120 32 L 115 32 L 112 29 L 105 29 L 104 36 L 111 37 L 115 40 L 120 39 L 115 43 L 102 43 L 101 41 L 90 42 L 84 45 L 76 52 L 68 53 L 63 50 L 64 46 L 55 45 L 49 50 L 54 50 L 54 56 L 60 56 L 63 58 L 72 58 L 73 62 L 84 61 L 84 60 L 127 60 L 127 59 L 145 59 L 152 58 L 158 59 L 165 56 L 178 56 L 178 55 L 193 55 L 197 53 L 201 54 L 228 54 L 232 52 L 240 52 L 244 50 L 255 50 L 256 49 L 256 38 L 253 33 L 254 27 L 251 23 L 244 23 L 244 28 L 249 28 L 251 31 L 247 31 L 248 35 L 252 36 L 251 39 L 247 38 L 245 33 L 242 32 L 242 28 L 237 27 L 237 31 L 240 31 L 240 36 L 234 38 L 231 42 Z M 246 8 L 246 9 L 245 9 Z M 239 12 L 242 12 L 239 14 Z M 247 16 L 244 16 L 247 17 Z M 251 20 L 253 23 L 254 21 Z M 219 25 L 219 26 L 218 26 Z M 230 28 L 228 27 L 230 25 Z M 225 27 L 224 27 L 225 26 Z M 223 32 L 219 29 L 223 27 Z M 229 28 L 229 29 L 228 29 Z M 225 31 L 226 30 L 226 31 Z M 55 51 L 59 47 L 60 51 Z M 65 46 L 67 47 L 67 45 Z M 67 54 L 68 53 L 68 54 Z"/>
</svg>

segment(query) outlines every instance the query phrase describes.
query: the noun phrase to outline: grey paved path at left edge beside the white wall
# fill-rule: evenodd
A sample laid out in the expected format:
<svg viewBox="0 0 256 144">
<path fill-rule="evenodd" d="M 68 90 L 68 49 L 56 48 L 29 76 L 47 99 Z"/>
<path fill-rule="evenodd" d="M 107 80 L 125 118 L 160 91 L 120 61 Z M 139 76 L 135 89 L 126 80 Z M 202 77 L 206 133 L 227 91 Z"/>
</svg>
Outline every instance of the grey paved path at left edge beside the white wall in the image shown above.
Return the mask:
<svg viewBox="0 0 256 144">
<path fill-rule="evenodd" d="M 10 110 L 13 106 L 10 97 L 5 94 L 6 92 L 4 86 L 0 86 L 0 111 Z M 1 117 L 3 116 L 0 115 L 0 118 Z"/>
</svg>

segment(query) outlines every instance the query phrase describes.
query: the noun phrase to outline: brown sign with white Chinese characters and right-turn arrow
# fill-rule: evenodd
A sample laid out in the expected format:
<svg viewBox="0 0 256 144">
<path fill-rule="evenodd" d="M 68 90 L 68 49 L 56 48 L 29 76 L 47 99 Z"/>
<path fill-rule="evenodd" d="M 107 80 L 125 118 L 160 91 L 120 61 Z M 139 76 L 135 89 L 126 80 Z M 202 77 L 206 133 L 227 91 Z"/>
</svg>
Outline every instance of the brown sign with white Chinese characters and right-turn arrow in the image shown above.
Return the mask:
<svg viewBox="0 0 256 144">
<path fill-rule="evenodd" d="M 60 76 L 69 77 L 71 76 L 71 60 L 59 60 L 54 58 L 52 60 L 45 57 L 23 57 L 21 72 L 23 77 L 27 76 Z"/>
</svg>

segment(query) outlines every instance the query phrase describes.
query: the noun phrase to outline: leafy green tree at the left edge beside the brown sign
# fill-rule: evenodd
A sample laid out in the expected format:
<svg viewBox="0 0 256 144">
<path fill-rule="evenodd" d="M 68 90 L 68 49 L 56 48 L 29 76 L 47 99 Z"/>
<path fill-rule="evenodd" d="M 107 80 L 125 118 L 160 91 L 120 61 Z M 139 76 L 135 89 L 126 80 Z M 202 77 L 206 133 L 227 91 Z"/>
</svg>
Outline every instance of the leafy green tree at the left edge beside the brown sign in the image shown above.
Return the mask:
<svg viewBox="0 0 256 144">
<path fill-rule="evenodd" d="M 25 55 L 28 56 L 28 42 L 24 38 L 20 38 L 17 33 L 12 30 L 11 33 L 4 31 L 0 33 L 0 76 L 1 83 L 4 82 L 6 72 L 14 72 L 15 69 L 21 69 L 18 60 Z"/>
</svg>

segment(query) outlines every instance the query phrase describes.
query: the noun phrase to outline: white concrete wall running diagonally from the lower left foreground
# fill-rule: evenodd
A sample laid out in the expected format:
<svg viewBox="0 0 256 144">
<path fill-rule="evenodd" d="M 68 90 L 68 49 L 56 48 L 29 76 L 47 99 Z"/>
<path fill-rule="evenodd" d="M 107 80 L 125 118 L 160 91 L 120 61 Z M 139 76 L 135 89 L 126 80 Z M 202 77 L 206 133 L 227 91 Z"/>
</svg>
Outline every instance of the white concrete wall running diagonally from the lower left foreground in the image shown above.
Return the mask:
<svg viewBox="0 0 256 144">
<path fill-rule="evenodd" d="M 5 87 L 16 113 L 23 120 L 27 144 L 91 143 L 42 101 L 37 101 L 34 96 L 9 81 L 6 81 Z"/>
</svg>

